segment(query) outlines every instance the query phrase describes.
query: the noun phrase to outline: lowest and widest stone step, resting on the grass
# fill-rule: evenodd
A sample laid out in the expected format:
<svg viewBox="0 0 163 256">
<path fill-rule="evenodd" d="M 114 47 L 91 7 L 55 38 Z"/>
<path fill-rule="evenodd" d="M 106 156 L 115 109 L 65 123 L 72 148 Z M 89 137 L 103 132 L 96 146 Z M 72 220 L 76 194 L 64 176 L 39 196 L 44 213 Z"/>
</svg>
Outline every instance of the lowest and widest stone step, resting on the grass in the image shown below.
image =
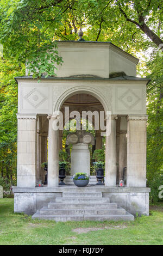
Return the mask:
<svg viewBox="0 0 163 256">
<path fill-rule="evenodd" d="M 56 222 L 66 221 L 134 221 L 134 216 L 126 212 L 126 215 L 43 215 L 37 211 L 33 219 L 39 218 L 40 220 L 53 220 Z"/>
</svg>

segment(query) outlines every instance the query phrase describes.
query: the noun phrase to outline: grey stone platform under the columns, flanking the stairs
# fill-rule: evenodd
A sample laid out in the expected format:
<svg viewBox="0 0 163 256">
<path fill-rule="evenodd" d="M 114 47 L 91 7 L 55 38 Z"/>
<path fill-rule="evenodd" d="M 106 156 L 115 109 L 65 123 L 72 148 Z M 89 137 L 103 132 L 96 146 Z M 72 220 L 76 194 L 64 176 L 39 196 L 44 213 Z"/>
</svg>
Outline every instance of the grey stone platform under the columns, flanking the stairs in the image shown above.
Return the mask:
<svg viewBox="0 0 163 256">
<path fill-rule="evenodd" d="M 109 199 L 110 203 L 116 203 L 132 215 L 149 215 L 149 192 L 147 187 L 107 187 L 88 185 L 76 187 L 66 185 L 59 187 L 12 187 L 14 192 L 14 212 L 35 214 L 48 203 L 55 203 L 56 198 L 62 198 L 64 193 L 91 193 L 96 198 L 96 192 L 102 193 L 103 199 Z M 92 198 L 92 197 L 91 197 Z M 103 200 L 102 199 L 102 200 Z M 59 199 L 57 199 L 59 200 Z M 62 199 L 61 199 L 62 200 Z M 95 199 L 96 201 L 96 199 Z M 90 203 L 90 202 L 89 202 Z M 91 201 L 91 203 L 93 203 Z"/>
</svg>

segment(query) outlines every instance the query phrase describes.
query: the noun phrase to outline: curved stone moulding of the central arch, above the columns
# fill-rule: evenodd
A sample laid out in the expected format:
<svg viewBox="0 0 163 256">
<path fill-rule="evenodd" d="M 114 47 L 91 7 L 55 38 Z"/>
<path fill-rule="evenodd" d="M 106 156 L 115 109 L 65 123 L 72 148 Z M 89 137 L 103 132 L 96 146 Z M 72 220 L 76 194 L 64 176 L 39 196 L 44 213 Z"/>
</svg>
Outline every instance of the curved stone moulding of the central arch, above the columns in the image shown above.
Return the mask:
<svg viewBox="0 0 163 256">
<path fill-rule="evenodd" d="M 64 93 L 62 93 L 57 101 L 54 103 L 53 106 L 53 113 L 55 112 L 59 112 L 61 109 L 62 104 L 65 102 L 65 100 L 70 97 L 73 96 L 75 94 L 90 94 L 94 97 L 96 97 L 96 99 L 99 100 L 99 102 L 101 102 L 104 111 L 106 113 L 106 111 L 110 111 L 112 113 L 112 109 L 111 109 L 111 105 L 108 101 L 108 99 L 106 99 L 106 96 L 101 92 L 101 90 L 98 90 L 97 88 L 91 87 L 91 86 L 75 86 L 72 88 L 68 88 L 67 90 L 65 90 Z"/>
</svg>

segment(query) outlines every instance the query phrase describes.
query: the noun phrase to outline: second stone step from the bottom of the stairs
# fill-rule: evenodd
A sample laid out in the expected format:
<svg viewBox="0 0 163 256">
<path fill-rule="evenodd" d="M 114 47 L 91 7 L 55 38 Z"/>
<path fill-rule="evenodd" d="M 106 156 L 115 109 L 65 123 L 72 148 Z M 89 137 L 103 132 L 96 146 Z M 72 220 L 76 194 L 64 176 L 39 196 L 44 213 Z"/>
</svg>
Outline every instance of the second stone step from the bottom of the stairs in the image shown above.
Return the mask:
<svg viewBox="0 0 163 256">
<path fill-rule="evenodd" d="M 124 209 L 48 209 L 42 208 L 41 215 L 125 215 Z"/>
</svg>

